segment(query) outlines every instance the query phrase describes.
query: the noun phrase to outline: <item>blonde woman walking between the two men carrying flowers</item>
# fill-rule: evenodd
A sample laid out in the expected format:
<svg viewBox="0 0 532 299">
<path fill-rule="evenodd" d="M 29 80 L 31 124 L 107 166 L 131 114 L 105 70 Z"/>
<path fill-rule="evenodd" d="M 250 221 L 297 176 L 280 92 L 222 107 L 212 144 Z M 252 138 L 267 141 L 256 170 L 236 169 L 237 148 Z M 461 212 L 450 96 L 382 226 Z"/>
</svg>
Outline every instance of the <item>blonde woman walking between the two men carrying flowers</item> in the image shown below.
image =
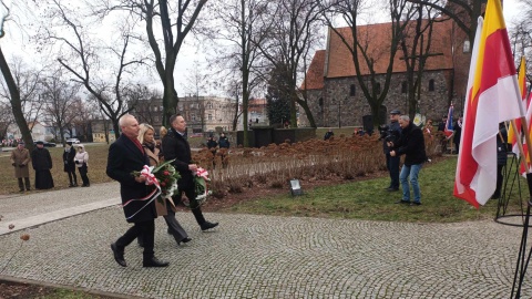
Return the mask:
<svg viewBox="0 0 532 299">
<path fill-rule="evenodd" d="M 141 124 L 140 125 L 141 131 L 139 133 L 139 142 L 142 144 L 142 147 L 144 148 L 144 152 L 147 155 L 147 158 L 150 161 L 150 166 L 156 166 L 158 164 L 158 154 L 160 154 L 160 148 L 156 146 L 156 142 L 154 138 L 155 135 L 155 130 L 153 126 L 149 124 Z M 166 134 L 164 134 L 166 135 Z M 188 238 L 188 235 L 186 234 L 185 229 L 181 226 L 181 224 L 177 221 L 175 218 L 175 204 L 172 199 L 166 199 L 164 202 L 160 202 L 158 199 L 155 199 L 155 209 L 157 210 L 158 216 L 163 216 L 164 220 L 168 225 L 168 234 L 172 235 L 177 243 L 177 245 L 181 245 L 181 243 L 188 243 L 192 239 Z M 139 245 L 143 247 L 143 236 L 139 236 L 136 238 L 139 241 Z"/>
</svg>

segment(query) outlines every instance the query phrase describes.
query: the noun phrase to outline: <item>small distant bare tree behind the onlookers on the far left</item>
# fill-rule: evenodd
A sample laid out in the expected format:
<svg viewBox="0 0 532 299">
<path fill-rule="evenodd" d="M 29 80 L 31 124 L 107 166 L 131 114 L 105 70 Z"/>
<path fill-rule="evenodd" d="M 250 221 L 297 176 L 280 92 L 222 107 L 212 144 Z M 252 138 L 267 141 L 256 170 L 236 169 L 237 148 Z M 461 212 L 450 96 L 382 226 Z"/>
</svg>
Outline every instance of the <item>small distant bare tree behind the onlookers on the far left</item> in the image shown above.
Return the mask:
<svg viewBox="0 0 532 299">
<path fill-rule="evenodd" d="M 78 83 L 73 84 L 72 81 L 66 81 L 62 71 L 59 69 L 42 80 L 41 101 L 44 103 L 45 121 L 55 128 L 55 140 L 60 140 L 64 144 L 64 133 L 79 114 L 75 100 L 79 99 L 78 92 L 81 86 Z"/>
</svg>

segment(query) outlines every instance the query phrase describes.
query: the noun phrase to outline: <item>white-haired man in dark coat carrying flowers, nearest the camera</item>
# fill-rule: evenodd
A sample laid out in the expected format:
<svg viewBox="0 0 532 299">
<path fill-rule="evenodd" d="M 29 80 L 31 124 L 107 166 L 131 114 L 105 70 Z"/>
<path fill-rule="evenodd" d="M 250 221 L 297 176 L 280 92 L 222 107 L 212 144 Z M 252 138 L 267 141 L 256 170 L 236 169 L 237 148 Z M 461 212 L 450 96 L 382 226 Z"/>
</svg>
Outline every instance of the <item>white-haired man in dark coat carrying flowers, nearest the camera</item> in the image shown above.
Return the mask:
<svg viewBox="0 0 532 299">
<path fill-rule="evenodd" d="M 120 182 L 120 195 L 127 223 L 134 225 L 111 244 L 114 260 L 126 267 L 124 249 L 137 236 L 142 235 L 144 251 L 143 267 L 166 267 L 168 262 L 160 261 L 154 256 L 155 236 L 155 202 L 139 200 L 147 197 L 154 190 L 153 186 L 145 184 L 146 178 L 134 176 L 133 172 L 142 171 L 144 165 L 150 165 L 146 153 L 137 140 L 140 126 L 136 118 L 131 114 L 123 115 L 119 121 L 122 135 L 109 147 L 108 168 L 109 177 Z M 156 199 L 155 199 L 156 200 Z"/>
</svg>

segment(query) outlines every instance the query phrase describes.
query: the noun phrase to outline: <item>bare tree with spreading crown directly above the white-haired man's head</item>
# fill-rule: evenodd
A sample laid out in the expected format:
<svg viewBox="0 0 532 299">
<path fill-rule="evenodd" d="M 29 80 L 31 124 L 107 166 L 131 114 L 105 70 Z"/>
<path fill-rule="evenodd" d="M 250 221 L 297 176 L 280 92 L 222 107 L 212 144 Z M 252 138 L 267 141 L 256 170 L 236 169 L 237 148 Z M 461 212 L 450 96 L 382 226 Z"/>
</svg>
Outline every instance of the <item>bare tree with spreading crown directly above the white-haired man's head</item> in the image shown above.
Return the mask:
<svg viewBox="0 0 532 299">
<path fill-rule="evenodd" d="M 48 18 L 54 27 L 45 30 L 44 38 L 52 47 L 64 49 L 58 54 L 59 63 L 70 71 L 75 82 L 98 99 L 101 110 L 112 121 L 117 138 L 119 118 L 134 109 L 134 103 L 125 105 L 123 95 L 132 83 L 124 78 L 132 78 L 136 66 L 146 60 L 142 54 L 133 55 L 127 52 L 130 43 L 135 41 L 135 35 L 131 33 L 135 20 L 129 18 L 119 27 L 122 44 L 98 47 L 88 31 L 89 25 L 78 21 L 85 19 L 76 16 L 75 11 L 63 6 L 60 0 L 51 2 L 52 9 Z M 104 58 L 112 58 L 112 62 Z M 114 69 L 110 70 L 110 65 L 114 65 Z M 105 78 L 104 72 L 111 72 L 114 80 Z M 114 82 L 108 83 L 109 81 Z"/>
</svg>

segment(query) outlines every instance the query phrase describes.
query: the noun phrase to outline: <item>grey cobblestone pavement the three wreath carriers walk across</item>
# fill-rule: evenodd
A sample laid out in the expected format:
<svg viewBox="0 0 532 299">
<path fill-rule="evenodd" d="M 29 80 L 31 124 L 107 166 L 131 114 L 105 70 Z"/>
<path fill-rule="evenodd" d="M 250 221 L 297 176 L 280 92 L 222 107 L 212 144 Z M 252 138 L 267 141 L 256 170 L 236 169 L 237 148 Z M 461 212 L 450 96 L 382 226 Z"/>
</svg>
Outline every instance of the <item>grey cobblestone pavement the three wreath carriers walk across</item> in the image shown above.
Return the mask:
<svg viewBox="0 0 532 299">
<path fill-rule="evenodd" d="M 144 298 L 509 298 L 522 233 L 493 221 L 239 214 L 206 214 L 221 225 L 202 233 L 191 213 L 178 213 L 193 238 L 186 245 L 156 220 L 155 252 L 170 267 L 142 268 L 132 244 L 122 268 L 110 249 L 129 227 L 116 196 L 116 184 L 102 184 L 0 198 L 2 227 L 91 202 L 103 207 L 0 235 L 0 275 Z M 532 297 L 530 276 L 522 298 Z"/>
</svg>

